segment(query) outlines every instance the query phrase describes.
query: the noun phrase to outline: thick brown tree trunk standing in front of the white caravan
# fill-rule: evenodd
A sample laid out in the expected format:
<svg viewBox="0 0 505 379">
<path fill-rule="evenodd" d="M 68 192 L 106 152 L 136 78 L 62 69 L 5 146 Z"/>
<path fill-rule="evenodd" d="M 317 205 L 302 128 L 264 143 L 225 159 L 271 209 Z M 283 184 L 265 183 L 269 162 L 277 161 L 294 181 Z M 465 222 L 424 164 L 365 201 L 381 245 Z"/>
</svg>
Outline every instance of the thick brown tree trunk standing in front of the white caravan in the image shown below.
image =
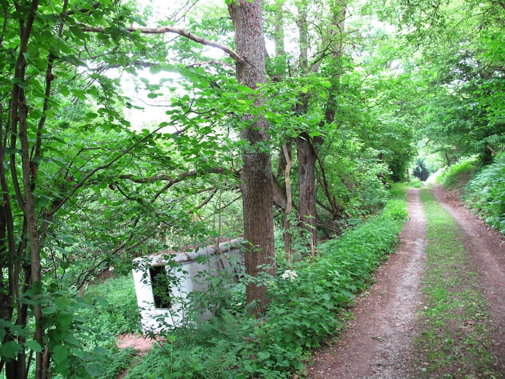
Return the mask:
<svg viewBox="0 0 505 379">
<path fill-rule="evenodd" d="M 239 0 L 238 4 L 229 5 L 236 52 L 242 58 L 237 61 L 237 80 L 252 89 L 257 88 L 257 83 L 266 82 L 262 8 L 262 0 Z M 261 105 L 262 98 L 258 96 L 255 106 Z M 245 254 L 245 268 L 252 277 L 261 277 L 262 273 L 274 275 L 272 162 L 264 149 L 269 141 L 268 122 L 263 116 L 252 115 L 245 115 L 242 122 L 245 126 L 240 136 L 249 145 L 242 153 L 244 166 L 241 174 L 244 234 L 250 243 Z M 257 302 L 257 314 L 262 313 L 268 302 L 266 286 L 251 282 L 245 292 L 247 303 Z"/>
</svg>

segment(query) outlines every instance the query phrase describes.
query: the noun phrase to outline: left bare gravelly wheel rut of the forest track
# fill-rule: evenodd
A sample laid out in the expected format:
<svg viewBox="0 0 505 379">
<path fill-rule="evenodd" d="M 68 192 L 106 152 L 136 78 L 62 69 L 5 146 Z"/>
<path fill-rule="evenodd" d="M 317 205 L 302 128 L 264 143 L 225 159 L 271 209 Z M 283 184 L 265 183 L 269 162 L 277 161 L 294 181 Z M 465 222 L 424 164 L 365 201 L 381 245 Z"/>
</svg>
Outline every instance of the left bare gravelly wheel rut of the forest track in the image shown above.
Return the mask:
<svg viewBox="0 0 505 379">
<path fill-rule="evenodd" d="M 406 379 L 420 281 L 426 261 L 426 218 L 419 189 L 408 192 L 410 220 L 401 244 L 356 303 L 355 320 L 333 346 L 321 349 L 309 377 Z"/>
</svg>

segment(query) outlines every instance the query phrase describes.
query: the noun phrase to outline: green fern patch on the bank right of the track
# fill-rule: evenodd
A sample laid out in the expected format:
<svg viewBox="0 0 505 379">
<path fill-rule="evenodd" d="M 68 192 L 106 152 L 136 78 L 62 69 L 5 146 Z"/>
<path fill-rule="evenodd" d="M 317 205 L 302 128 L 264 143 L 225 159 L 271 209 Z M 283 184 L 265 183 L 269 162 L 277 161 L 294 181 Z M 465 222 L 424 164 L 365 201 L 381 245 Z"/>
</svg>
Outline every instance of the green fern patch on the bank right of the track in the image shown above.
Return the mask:
<svg viewBox="0 0 505 379">
<path fill-rule="evenodd" d="M 505 234 L 505 154 L 475 175 L 465 187 L 463 199 L 487 224 Z"/>
</svg>

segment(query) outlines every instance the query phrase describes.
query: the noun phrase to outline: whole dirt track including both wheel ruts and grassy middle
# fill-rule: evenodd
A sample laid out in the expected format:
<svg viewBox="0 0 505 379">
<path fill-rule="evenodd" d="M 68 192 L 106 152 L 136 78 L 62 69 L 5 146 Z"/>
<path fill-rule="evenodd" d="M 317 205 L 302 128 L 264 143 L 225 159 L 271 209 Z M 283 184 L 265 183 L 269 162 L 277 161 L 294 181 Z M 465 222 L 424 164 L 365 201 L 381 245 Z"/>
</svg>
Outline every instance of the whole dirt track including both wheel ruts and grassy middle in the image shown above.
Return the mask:
<svg viewBox="0 0 505 379">
<path fill-rule="evenodd" d="M 323 378 L 505 377 L 505 242 L 440 186 L 410 188 L 396 253 L 312 358 Z"/>
</svg>

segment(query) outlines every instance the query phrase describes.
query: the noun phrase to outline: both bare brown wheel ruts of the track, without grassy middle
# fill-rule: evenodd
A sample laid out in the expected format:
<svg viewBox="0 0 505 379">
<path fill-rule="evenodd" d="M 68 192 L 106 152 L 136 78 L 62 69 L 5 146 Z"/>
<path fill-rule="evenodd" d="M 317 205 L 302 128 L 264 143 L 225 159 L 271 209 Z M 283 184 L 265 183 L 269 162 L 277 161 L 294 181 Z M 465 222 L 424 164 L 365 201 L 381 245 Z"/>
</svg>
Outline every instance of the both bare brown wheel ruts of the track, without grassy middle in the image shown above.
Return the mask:
<svg viewBox="0 0 505 379">
<path fill-rule="evenodd" d="M 482 293 L 493 321 L 493 354 L 505 362 L 505 245 L 501 236 L 472 215 L 455 194 L 432 190 L 455 218 L 464 246 L 479 275 Z M 407 379 L 420 377 L 413 349 L 416 309 L 422 303 L 425 270 L 426 217 L 419 189 L 408 192 L 410 220 L 400 234 L 395 254 L 377 271 L 375 285 L 362 294 L 353 310 L 355 319 L 339 340 L 322 348 L 309 366 L 313 379 Z M 436 374 L 435 374 L 436 375 Z M 436 377 L 436 376 L 434 376 Z"/>
</svg>

